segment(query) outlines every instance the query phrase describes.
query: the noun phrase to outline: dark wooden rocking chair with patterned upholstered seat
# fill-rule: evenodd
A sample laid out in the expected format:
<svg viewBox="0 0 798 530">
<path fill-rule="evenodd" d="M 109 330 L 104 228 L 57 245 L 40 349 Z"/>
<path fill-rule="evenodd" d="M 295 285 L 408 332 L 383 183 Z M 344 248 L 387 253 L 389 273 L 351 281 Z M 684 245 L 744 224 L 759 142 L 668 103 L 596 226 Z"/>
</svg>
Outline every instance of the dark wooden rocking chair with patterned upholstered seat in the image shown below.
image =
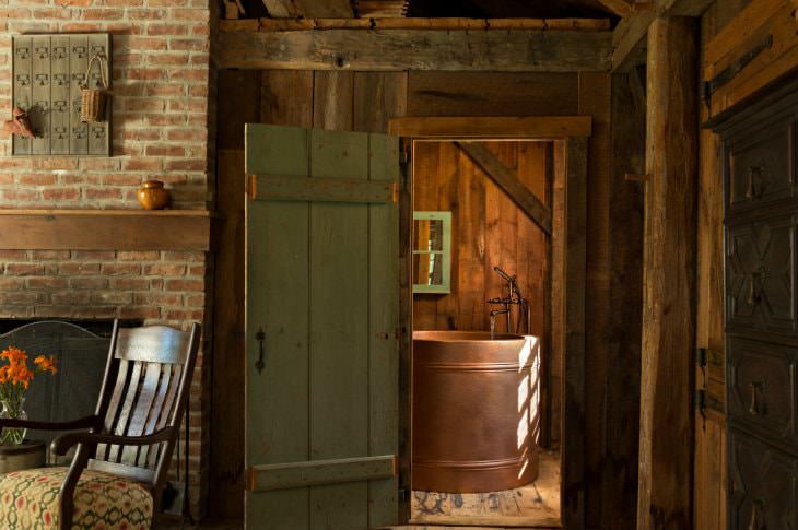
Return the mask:
<svg viewBox="0 0 798 530">
<path fill-rule="evenodd" d="M 0 420 L 2 428 L 75 431 L 51 450 L 78 446 L 69 468 L 0 475 L 4 530 L 146 530 L 161 497 L 186 410 L 200 326 L 114 331 L 94 415 L 71 422 Z"/>
</svg>

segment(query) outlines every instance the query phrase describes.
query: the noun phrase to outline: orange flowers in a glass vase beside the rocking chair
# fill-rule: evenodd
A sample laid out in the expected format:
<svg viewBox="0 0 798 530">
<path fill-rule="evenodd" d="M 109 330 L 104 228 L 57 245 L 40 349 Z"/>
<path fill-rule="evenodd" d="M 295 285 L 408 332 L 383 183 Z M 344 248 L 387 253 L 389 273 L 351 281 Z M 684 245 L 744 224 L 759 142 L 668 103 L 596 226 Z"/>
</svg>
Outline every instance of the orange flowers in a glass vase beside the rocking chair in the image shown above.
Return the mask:
<svg viewBox="0 0 798 530">
<path fill-rule="evenodd" d="M 5 364 L 0 366 L 0 402 L 3 405 L 0 417 L 27 420 L 23 409 L 25 392 L 35 374 L 49 372 L 55 375 L 58 372 L 56 358 L 52 355 L 49 357 L 38 355 L 33 361 L 32 369 L 27 364 L 27 353 L 9 346 L 0 353 L 0 360 L 5 361 Z M 25 428 L 3 428 L 0 433 L 0 444 L 20 445 L 26 432 Z"/>
</svg>

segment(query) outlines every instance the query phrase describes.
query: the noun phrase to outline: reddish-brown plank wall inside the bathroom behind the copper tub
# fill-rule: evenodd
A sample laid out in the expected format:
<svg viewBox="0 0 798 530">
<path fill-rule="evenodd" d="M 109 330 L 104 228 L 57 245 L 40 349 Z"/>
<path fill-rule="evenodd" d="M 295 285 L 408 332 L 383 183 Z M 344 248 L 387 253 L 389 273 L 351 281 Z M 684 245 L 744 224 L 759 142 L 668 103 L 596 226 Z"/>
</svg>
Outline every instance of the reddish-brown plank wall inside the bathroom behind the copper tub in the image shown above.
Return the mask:
<svg viewBox="0 0 798 530">
<path fill-rule="evenodd" d="M 545 202 L 549 142 L 485 144 Z M 506 282 L 493 271 L 498 266 L 517 274 L 521 294 L 531 302 L 532 332 L 542 337 L 545 236 L 453 142 L 418 142 L 413 156 L 414 210 L 453 212 L 451 293 L 413 295 L 413 329 L 489 329 L 485 301 L 506 296 Z M 503 316 L 496 331 L 506 331 Z"/>
</svg>

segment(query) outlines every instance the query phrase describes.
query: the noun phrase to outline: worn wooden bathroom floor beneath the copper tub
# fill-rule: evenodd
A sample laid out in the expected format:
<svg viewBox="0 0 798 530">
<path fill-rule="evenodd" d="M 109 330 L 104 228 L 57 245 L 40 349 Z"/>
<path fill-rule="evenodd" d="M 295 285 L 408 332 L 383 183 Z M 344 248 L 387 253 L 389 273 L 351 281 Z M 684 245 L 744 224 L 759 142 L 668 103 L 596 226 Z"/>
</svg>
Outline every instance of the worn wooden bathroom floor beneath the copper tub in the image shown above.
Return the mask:
<svg viewBox="0 0 798 530">
<path fill-rule="evenodd" d="M 492 493 L 413 492 L 411 523 L 556 527 L 560 523 L 560 454 L 540 455 L 538 480 Z"/>
</svg>

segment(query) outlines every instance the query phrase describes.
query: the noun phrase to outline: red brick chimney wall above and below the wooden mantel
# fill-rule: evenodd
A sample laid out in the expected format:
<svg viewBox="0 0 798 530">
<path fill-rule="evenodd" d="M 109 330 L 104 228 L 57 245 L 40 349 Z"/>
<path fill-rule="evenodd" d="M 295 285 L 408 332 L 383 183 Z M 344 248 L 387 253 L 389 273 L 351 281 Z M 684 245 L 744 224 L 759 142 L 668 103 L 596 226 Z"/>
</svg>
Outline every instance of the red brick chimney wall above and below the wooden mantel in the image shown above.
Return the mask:
<svg viewBox="0 0 798 530">
<path fill-rule="evenodd" d="M 157 178 L 172 190 L 173 208 L 206 209 L 213 189 L 209 19 L 209 0 L 0 0 L 0 108 L 9 116 L 12 34 L 108 32 L 114 51 L 113 156 L 11 157 L 10 140 L 0 139 L 0 208 L 139 209 L 136 191 Z M 0 251 L 0 317 L 121 317 L 178 327 L 197 320 L 209 344 L 211 261 L 168 250 Z M 209 374 L 198 364 L 195 514 L 204 511 L 210 410 Z"/>
</svg>

